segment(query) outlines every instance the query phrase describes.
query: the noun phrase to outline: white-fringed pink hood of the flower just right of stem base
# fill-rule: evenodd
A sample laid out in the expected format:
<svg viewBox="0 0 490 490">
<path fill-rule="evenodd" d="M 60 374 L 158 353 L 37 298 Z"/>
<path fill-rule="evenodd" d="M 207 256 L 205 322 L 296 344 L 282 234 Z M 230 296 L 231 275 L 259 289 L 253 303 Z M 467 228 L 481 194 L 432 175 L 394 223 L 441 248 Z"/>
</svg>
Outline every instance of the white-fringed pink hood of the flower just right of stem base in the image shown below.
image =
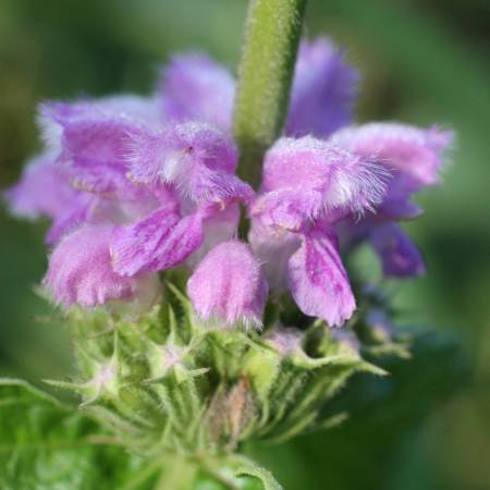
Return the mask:
<svg viewBox="0 0 490 490">
<path fill-rule="evenodd" d="M 265 224 L 298 231 L 315 219 L 338 220 L 382 200 L 388 173 L 328 142 L 282 138 L 267 152 L 262 194 L 252 216 Z"/>
</svg>

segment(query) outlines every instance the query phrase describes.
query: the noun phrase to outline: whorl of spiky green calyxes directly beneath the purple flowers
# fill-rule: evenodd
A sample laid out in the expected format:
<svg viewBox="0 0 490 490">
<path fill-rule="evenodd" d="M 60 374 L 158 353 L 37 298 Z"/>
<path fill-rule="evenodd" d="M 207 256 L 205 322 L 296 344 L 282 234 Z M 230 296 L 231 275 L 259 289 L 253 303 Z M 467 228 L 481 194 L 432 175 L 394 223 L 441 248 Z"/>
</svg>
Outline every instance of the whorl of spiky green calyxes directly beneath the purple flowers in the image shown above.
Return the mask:
<svg viewBox="0 0 490 490">
<path fill-rule="evenodd" d="M 138 454 L 281 442 L 328 424 L 322 408 L 354 372 L 382 373 L 319 322 L 287 348 L 272 323 L 260 334 L 205 326 L 171 284 L 137 321 L 72 309 L 68 322 L 79 376 L 51 383 L 81 394 L 81 408 Z"/>
</svg>

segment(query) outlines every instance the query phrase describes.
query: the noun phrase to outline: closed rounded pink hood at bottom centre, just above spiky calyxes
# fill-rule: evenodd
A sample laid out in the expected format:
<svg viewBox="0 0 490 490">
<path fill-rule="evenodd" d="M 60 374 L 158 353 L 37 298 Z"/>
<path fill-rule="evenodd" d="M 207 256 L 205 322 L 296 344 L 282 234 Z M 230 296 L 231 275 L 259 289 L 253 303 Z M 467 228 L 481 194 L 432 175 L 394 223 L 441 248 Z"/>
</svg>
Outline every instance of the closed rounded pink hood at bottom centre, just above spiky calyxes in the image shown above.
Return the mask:
<svg viewBox="0 0 490 490">
<path fill-rule="evenodd" d="M 225 242 L 201 260 L 187 283 L 187 293 L 204 321 L 218 319 L 260 328 L 268 286 L 248 245 Z"/>
</svg>

